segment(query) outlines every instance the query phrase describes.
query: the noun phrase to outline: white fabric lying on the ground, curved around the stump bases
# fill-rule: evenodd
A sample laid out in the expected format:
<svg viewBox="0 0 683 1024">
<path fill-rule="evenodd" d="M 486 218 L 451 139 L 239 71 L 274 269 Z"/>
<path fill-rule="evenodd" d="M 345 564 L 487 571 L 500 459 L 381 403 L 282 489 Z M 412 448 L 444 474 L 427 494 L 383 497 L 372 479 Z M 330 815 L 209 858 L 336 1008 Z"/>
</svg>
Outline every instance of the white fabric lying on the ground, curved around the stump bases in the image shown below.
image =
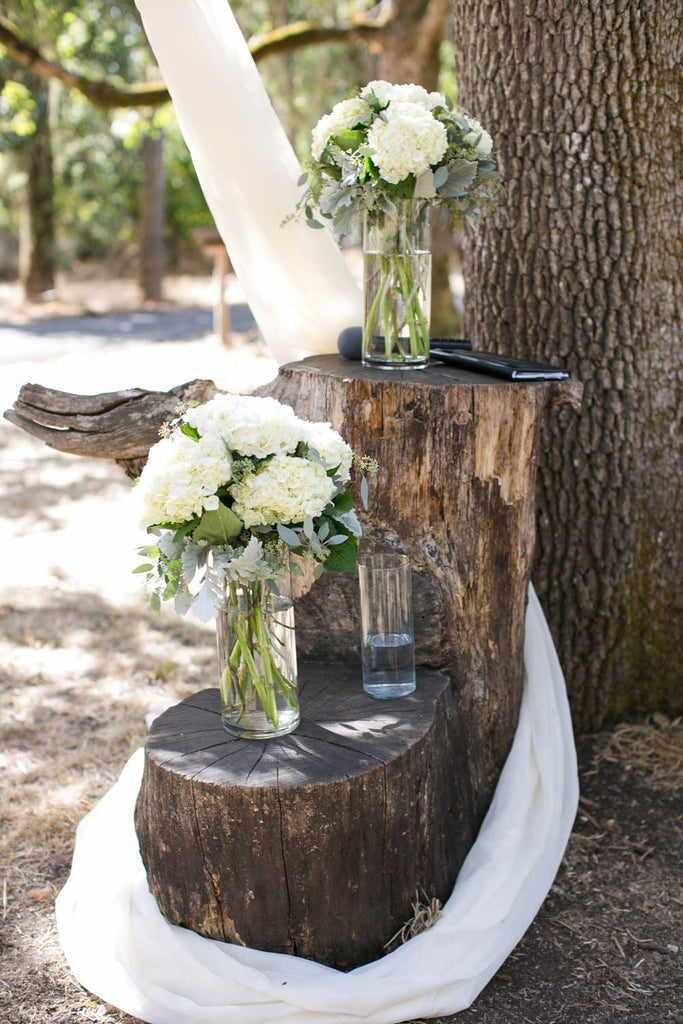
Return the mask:
<svg viewBox="0 0 683 1024">
<path fill-rule="evenodd" d="M 342 974 L 169 924 L 147 889 L 134 830 L 139 750 L 79 825 L 57 899 L 78 980 L 151 1024 L 397 1024 L 469 1007 L 543 903 L 579 800 L 564 680 L 532 589 L 524 669 L 519 725 L 494 800 L 429 931 Z"/>
</svg>

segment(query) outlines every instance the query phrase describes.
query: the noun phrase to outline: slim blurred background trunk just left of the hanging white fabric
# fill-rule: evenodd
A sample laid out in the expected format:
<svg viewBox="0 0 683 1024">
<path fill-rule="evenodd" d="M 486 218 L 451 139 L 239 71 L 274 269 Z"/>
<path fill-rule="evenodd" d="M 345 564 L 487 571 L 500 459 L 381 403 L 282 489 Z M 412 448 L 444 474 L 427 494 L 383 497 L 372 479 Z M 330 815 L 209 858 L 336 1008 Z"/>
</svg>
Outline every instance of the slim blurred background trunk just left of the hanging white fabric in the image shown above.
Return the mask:
<svg viewBox="0 0 683 1024">
<path fill-rule="evenodd" d="M 142 140 L 144 182 L 140 196 L 139 284 L 145 301 L 159 302 L 164 281 L 164 137 Z"/>
</svg>

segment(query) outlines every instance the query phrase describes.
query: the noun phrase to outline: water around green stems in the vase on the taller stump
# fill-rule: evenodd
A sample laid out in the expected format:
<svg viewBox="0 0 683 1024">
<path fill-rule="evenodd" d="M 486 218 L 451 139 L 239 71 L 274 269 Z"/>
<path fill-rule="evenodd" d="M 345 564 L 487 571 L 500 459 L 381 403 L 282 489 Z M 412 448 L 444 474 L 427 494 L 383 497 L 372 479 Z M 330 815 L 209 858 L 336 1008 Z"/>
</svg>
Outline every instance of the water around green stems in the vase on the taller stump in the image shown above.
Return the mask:
<svg viewBox="0 0 683 1024">
<path fill-rule="evenodd" d="M 387 370 L 427 366 L 431 259 L 424 251 L 365 253 L 366 365 Z"/>
</svg>

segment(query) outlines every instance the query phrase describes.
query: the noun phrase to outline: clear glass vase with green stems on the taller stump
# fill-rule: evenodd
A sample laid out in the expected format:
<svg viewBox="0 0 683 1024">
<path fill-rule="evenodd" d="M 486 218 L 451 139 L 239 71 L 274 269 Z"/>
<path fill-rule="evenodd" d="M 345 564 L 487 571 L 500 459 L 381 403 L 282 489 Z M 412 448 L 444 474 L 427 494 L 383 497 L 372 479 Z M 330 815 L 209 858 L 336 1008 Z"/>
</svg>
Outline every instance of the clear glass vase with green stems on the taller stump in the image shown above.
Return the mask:
<svg viewBox="0 0 683 1024">
<path fill-rule="evenodd" d="M 430 204 L 405 199 L 396 213 L 366 213 L 362 362 L 421 370 L 429 361 Z"/>
</svg>

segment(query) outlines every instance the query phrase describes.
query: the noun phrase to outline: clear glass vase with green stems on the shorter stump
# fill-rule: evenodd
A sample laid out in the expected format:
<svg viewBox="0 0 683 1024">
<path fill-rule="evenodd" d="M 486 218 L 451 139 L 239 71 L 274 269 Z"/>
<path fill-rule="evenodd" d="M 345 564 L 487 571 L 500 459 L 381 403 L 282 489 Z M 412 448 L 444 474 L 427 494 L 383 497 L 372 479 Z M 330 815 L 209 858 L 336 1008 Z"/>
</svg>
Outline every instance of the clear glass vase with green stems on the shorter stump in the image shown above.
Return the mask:
<svg viewBox="0 0 683 1024">
<path fill-rule="evenodd" d="M 216 640 L 225 729 L 241 739 L 293 732 L 299 694 L 289 563 L 274 581 L 226 585 Z"/>
</svg>

